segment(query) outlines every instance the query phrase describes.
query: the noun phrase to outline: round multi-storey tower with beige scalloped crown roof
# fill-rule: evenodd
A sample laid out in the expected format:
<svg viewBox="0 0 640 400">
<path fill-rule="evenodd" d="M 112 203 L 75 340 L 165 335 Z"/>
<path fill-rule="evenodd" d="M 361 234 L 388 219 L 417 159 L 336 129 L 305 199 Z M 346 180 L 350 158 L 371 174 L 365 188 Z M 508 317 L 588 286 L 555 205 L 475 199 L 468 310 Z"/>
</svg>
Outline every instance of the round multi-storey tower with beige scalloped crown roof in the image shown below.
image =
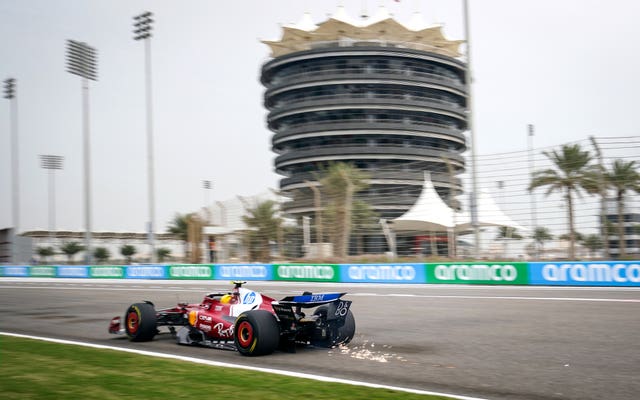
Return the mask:
<svg viewBox="0 0 640 400">
<path fill-rule="evenodd" d="M 308 14 L 264 41 L 272 59 L 262 67 L 265 107 L 280 189 L 292 217 L 315 215 L 313 187 L 332 162 L 347 162 L 369 177 L 356 197 L 392 220 L 418 199 L 424 172 L 449 203 L 462 192 L 467 128 L 466 65 L 461 41 L 444 38 L 419 14 L 406 25 L 383 7 L 365 20 L 339 8 L 315 25 Z M 414 247 L 398 234 L 398 251 Z M 416 233 L 414 233 L 415 236 Z M 364 248 L 384 251 L 380 227 Z"/>
</svg>

